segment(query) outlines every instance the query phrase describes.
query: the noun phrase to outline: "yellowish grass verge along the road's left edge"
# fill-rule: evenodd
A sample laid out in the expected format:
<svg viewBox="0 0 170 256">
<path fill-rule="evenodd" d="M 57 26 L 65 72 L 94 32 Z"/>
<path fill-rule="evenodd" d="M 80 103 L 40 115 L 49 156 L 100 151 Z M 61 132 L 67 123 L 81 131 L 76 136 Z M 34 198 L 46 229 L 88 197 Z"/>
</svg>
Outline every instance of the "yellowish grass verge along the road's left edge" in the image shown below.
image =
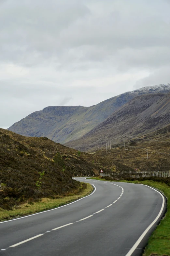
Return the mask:
<svg viewBox="0 0 170 256">
<path fill-rule="evenodd" d="M 76 201 L 79 198 L 84 196 L 88 196 L 92 193 L 93 187 L 91 184 L 86 183 L 87 188 L 84 189 L 81 193 L 77 195 L 68 195 L 55 199 L 51 198 L 42 198 L 41 201 L 35 203 L 24 203 L 13 210 L 7 211 L 0 208 L 0 221 L 10 220 L 13 218 L 18 218 L 21 216 L 29 215 L 32 213 L 38 213 L 46 210 L 50 210 L 64 204 L 68 204 L 70 202 Z"/>
</svg>

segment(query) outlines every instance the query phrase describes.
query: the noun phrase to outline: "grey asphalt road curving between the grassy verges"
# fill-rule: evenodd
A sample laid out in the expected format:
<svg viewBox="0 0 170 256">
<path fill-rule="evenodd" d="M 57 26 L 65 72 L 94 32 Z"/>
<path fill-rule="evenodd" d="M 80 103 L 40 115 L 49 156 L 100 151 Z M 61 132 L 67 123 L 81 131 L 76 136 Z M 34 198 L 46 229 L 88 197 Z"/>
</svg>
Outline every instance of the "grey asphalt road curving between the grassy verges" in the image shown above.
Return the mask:
<svg viewBox="0 0 170 256">
<path fill-rule="evenodd" d="M 1 222 L 0 255 L 141 255 L 165 211 L 164 197 L 139 184 L 78 181 L 95 190 L 64 207 Z"/>
</svg>

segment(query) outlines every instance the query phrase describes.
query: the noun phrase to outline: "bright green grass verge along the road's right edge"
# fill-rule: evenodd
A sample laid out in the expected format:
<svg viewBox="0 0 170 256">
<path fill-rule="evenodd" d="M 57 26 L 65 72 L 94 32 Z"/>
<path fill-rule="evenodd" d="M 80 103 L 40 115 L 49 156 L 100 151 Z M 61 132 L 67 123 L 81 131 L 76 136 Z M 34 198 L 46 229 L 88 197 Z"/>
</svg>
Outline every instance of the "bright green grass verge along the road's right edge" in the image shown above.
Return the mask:
<svg viewBox="0 0 170 256">
<path fill-rule="evenodd" d="M 98 177 L 91 178 L 91 179 L 105 180 L 105 179 L 100 179 Z M 129 183 L 135 183 L 135 184 L 148 185 L 163 192 L 163 194 L 166 196 L 167 199 L 170 198 L 170 186 L 167 186 L 162 182 L 155 182 L 151 180 L 145 180 L 140 182 L 138 180 L 135 180 L 135 181 L 121 180 L 120 182 L 129 182 Z M 170 255 L 170 200 L 167 200 L 167 213 L 165 215 L 165 218 L 161 220 L 160 225 L 150 236 L 148 245 L 145 248 L 145 253 L 143 256 L 149 256 L 149 255 L 156 256 L 156 255 L 168 255 L 168 254 Z"/>
</svg>

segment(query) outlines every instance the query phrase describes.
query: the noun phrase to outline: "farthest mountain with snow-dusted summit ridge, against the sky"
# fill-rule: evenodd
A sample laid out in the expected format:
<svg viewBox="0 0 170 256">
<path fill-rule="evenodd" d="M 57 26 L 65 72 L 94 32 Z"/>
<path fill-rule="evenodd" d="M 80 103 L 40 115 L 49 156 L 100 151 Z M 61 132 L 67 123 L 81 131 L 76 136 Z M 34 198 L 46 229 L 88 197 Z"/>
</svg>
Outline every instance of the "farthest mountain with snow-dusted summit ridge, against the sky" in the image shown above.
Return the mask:
<svg viewBox="0 0 170 256">
<path fill-rule="evenodd" d="M 46 107 L 21 119 L 9 130 L 24 136 L 47 137 L 64 144 L 81 138 L 136 96 L 167 92 L 170 92 L 170 84 L 161 84 L 126 92 L 91 107 Z"/>
</svg>

